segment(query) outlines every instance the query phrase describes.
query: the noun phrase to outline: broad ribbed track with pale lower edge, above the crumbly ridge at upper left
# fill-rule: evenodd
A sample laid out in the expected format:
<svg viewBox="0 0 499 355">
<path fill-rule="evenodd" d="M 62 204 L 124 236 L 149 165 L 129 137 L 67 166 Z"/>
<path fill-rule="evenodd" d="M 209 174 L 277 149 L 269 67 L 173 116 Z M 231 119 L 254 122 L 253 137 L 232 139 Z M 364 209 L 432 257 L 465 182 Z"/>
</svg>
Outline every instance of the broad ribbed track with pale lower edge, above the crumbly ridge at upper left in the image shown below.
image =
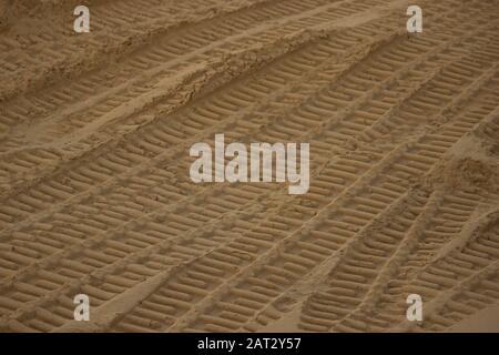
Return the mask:
<svg viewBox="0 0 499 355">
<path fill-rule="evenodd" d="M 315 3 L 318 4 L 320 3 Z M 293 1 L 284 6 L 278 1 L 266 1 L 258 7 L 251 6 L 248 9 L 218 16 L 206 23 L 183 26 L 169 32 L 166 37 L 146 43 L 112 67 L 108 64 L 98 71 L 72 78 L 67 85 L 59 83 L 43 93 L 17 98 L 6 105 L 4 120 L 19 124 L 27 118 L 40 120 L 47 116 L 51 120 L 54 115 L 62 121 L 59 119 L 62 115 L 65 130 L 60 134 L 67 133 L 102 112 L 112 110 L 126 97 L 138 97 L 144 90 L 147 91 L 161 78 L 175 71 L 212 61 L 245 47 L 268 44 L 298 31 L 305 20 L 320 24 L 352 13 L 335 14 L 333 10 L 340 4 L 347 3 L 323 1 L 319 8 L 314 8 L 314 3 L 307 2 Z M 371 4 L 375 2 L 364 7 Z M 273 16 L 269 17 L 269 13 Z M 78 114 L 82 110 L 91 112 Z M 16 146 L 12 142 L 7 146 Z"/>
</svg>

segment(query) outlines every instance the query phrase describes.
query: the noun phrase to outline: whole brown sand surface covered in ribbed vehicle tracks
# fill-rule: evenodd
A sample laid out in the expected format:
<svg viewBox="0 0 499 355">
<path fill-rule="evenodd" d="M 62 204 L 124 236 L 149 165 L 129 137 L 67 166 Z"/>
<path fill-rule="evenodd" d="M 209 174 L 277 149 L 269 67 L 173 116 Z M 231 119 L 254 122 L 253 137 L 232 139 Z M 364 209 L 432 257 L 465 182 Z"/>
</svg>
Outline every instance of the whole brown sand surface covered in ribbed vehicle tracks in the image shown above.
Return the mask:
<svg viewBox="0 0 499 355">
<path fill-rule="evenodd" d="M 0 332 L 498 332 L 499 1 L 415 2 L 0 0 Z"/>
</svg>

